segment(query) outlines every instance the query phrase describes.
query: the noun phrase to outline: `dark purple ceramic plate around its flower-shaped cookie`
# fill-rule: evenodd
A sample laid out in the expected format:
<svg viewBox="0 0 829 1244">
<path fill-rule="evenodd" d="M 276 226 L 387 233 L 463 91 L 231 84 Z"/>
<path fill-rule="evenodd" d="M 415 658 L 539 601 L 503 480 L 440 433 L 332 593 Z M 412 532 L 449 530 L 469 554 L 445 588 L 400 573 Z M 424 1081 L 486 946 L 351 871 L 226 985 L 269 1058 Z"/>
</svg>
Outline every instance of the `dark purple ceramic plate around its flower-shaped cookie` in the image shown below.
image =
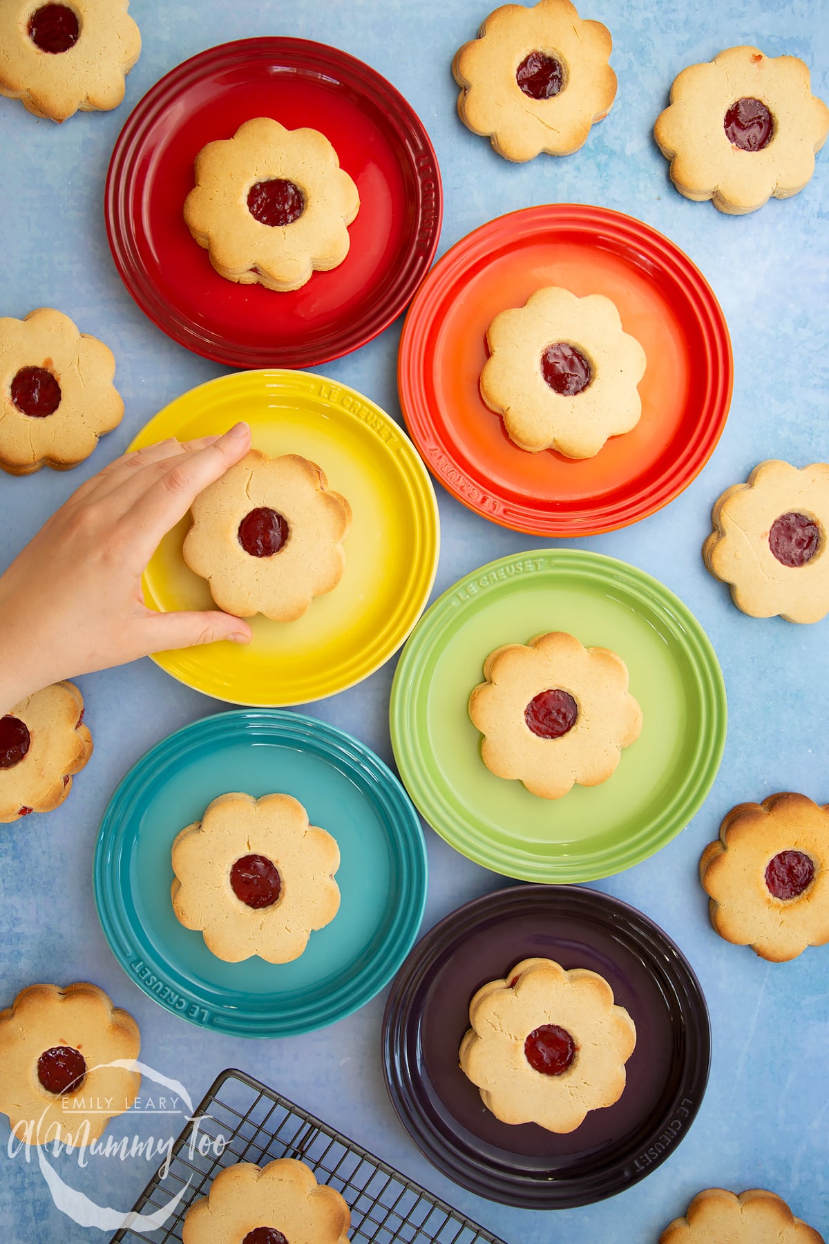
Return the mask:
<svg viewBox="0 0 829 1244">
<path fill-rule="evenodd" d="M 624 1093 L 567 1136 L 501 1123 L 457 1062 L 475 990 L 532 955 L 600 973 L 636 1025 Z M 578 886 L 511 886 L 445 917 L 398 972 L 383 1018 L 387 1088 L 415 1144 L 461 1187 L 532 1209 L 602 1200 L 660 1166 L 700 1108 L 710 1056 L 705 998 L 679 947 Z"/>
</svg>

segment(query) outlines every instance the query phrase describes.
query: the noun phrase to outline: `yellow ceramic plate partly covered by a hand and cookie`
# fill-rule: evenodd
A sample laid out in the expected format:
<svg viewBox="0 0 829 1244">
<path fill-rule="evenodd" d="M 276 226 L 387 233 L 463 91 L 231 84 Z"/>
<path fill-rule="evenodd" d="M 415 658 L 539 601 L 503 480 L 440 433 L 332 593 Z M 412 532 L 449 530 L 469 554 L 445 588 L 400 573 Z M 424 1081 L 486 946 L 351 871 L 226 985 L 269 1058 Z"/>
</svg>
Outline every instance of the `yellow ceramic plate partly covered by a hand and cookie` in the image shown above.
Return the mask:
<svg viewBox="0 0 829 1244">
<path fill-rule="evenodd" d="M 440 545 L 431 480 L 388 414 L 308 372 L 250 371 L 210 381 L 159 411 L 129 448 L 225 432 L 237 419 L 250 424 L 254 448 L 311 458 L 348 498 L 346 573 L 296 622 L 250 618 L 249 646 L 213 643 L 153 659 L 189 687 L 234 704 L 278 708 L 334 695 L 388 661 L 426 603 Z M 214 607 L 206 581 L 181 557 L 189 525 L 188 516 L 147 567 L 150 608 Z"/>
</svg>

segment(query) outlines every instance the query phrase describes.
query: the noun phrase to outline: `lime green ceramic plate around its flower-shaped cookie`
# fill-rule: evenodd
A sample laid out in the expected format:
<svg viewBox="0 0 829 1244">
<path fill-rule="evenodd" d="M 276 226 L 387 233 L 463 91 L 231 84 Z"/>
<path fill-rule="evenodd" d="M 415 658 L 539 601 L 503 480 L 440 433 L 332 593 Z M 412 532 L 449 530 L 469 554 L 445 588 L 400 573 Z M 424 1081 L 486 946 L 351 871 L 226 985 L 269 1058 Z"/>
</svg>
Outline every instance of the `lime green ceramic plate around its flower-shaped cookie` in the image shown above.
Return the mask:
<svg viewBox="0 0 829 1244">
<path fill-rule="evenodd" d="M 491 774 L 466 709 L 485 657 L 544 631 L 616 652 L 644 723 L 608 781 L 558 800 Z M 635 566 L 566 549 L 502 557 L 444 592 L 403 651 L 390 703 L 398 769 L 426 821 L 470 860 L 539 882 L 608 877 L 670 841 L 711 787 L 726 715 L 720 664 L 687 607 Z"/>
</svg>

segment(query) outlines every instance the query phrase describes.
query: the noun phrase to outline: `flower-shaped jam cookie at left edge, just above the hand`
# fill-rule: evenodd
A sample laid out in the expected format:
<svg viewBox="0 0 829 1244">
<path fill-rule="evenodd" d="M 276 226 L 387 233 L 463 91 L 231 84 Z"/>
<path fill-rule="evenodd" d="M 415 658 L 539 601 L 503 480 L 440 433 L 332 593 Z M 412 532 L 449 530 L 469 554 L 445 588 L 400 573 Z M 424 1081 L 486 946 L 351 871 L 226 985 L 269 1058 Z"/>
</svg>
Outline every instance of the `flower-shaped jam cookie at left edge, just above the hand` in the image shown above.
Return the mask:
<svg viewBox="0 0 829 1244">
<path fill-rule="evenodd" d="M 121 423 L 116 361 L 97 337 L 51 307 L 0 318 L 0 466 L 67 470 Z"/>
</svg>

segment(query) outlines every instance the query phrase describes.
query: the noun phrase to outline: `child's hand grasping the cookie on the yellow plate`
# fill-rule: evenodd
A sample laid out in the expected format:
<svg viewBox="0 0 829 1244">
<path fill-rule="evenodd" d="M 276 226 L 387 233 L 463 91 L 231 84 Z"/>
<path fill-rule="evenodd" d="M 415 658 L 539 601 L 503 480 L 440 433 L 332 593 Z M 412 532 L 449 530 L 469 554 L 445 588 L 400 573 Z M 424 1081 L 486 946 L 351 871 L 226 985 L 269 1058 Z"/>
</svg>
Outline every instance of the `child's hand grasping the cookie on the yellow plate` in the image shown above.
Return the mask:
<svg viewBox="0 0 829 1244">
<path fill-rule="evenodd" d="M 61 678 L 165 648 L 249 642 L 240 618 L 155 613 L 140 590 L 162 536 L 249 448 L 239 423 L 222 437 L 124 454 L 48 519 L 0 576 L 0 715 Z"/>
</svg>

